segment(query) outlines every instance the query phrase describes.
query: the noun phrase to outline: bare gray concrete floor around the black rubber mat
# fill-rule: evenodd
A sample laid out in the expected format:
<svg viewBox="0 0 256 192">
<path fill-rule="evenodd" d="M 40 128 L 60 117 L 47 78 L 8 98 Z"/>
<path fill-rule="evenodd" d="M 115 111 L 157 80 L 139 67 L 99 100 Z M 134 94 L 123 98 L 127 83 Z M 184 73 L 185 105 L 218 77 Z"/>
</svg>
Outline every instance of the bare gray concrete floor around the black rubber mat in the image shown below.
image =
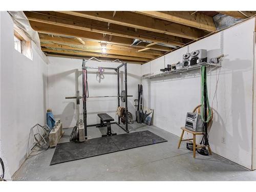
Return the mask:
<svg viewBox="0 0 256 192">
<path fill-rule="evenodd" d="M 112 130 L 124 133 L 117 125 Z M 23 163 L 14 174 L 15 178 L 26 177 L 34 180 L 97 180 L 97 181 L 256 181 L 256 172 L 250 171 L 236 163 L 216 154 L 212 156 L 196 155 L 188 151 L 185 142 L 177 148 L 179 137 L 159 129 L 156 126 L 131 124 L 131 132 L 151 131 L 168 142 L 148 145 L 131 150 L 105 154 L 101 156 L 49 165 L 55 148 L 35 152 Z M 65 135 L 59 142 L 68 142 L 72 129 L 64 129 Z M 89 138 L 100 137 L 106 132 L 89 127 Z"/>
</svg>

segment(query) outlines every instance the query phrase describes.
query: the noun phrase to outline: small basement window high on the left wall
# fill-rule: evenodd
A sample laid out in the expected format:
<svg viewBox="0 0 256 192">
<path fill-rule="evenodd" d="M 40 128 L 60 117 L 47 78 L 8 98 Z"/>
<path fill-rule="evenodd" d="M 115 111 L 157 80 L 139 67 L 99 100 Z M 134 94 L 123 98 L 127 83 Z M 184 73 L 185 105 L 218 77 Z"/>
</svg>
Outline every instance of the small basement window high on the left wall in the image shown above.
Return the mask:
<svg viewBox="0 0 256 192">
<path fill-rule="evenodd" d="M 14 49 L 32 60 L 31 40 L 20 29 L 14 26 Z"/>
</svg>

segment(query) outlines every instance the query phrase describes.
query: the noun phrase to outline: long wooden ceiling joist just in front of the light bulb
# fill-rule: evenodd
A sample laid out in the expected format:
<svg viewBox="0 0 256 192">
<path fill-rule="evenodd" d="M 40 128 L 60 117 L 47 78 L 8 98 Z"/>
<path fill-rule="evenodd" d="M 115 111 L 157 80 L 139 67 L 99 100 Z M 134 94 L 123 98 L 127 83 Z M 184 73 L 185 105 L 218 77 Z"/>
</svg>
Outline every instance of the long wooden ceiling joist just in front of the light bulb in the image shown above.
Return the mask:
<svg viewBox="0 0 256 192">
<path fill-rule="evenodd" d="M 103 37 L 103 35 L 100 33 L 82 31 L 82 30 L 71 29 L 71 28 L 66 28 L 66 27 L 60 28 L 55 25 L 42 24 L 42 23 L 33 22 L 33 21 L 30 21 L 30 25 L 35 31 L 37 31 L 39 33 L 60 35 L 60 36 L 80 37 L 80 38 L 84 38 L 84 39 L 92 39 L 92 40 L 97 40 L 97 41 L 109 42 L 108 41 L 109 35 L 106 35 L 105 37 Z M 115 45 L 131 46 L 133 43 L 133 40 L 130 38 L 113 36 L 111 39 L 111 42 L 109 42 L 109 43 L 115 44 Z M 145 48 L 146 45 L 147 45 L 146 43 L 141 42 L 140 45 L 136 46 L 136 47 Z M 172 50 L 172 48 L 159 46 L 159 45 L 152 46 L 151 49 L 158 50 L 158 51 L 165 51 L 165 52 Z"/>
</svg>

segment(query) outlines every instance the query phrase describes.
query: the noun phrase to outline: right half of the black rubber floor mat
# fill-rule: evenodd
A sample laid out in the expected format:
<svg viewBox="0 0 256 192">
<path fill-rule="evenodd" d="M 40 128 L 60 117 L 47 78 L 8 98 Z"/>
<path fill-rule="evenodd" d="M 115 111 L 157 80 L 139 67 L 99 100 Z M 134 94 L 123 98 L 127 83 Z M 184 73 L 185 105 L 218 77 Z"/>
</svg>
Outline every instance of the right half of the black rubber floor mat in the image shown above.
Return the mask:
<svg viewBox="0 0 256 192">
<path fill-rule="evenodd" d="M 120 134 L 111 136 L 111 138 L 118 147 L 119 151 L 167 141 L 150 131 Z"/>
</svg>

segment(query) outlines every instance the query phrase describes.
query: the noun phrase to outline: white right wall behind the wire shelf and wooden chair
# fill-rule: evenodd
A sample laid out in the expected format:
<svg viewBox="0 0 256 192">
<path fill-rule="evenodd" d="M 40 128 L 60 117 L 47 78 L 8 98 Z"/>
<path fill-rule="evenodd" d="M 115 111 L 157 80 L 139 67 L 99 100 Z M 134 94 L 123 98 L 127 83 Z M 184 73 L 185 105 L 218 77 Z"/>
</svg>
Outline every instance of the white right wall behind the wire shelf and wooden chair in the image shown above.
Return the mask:
<svg viewBox="0 0 256 192">
<path fill-rule="evenodd" d="M 255 19 L 199 40 L 187 47 L 148 62 L 142 75 L 160 71 L 167 64 L 182 60 L 182 55 L 207 49 L 208 58 L 225 54 L 219 69 L 207 68 L 210 102 L 214 97 L 220 70 L 214 123 L 209 142 L 214 153 L 251 168 L 253 32 Z M 185 115 L 200 104 L 200 70 L 153 79 L 142 79 L 144 103 L 155 109 L 154 125 L 180 136 Z M 222 143 L 224 138 L 224 143 Z"/>
</svg>

